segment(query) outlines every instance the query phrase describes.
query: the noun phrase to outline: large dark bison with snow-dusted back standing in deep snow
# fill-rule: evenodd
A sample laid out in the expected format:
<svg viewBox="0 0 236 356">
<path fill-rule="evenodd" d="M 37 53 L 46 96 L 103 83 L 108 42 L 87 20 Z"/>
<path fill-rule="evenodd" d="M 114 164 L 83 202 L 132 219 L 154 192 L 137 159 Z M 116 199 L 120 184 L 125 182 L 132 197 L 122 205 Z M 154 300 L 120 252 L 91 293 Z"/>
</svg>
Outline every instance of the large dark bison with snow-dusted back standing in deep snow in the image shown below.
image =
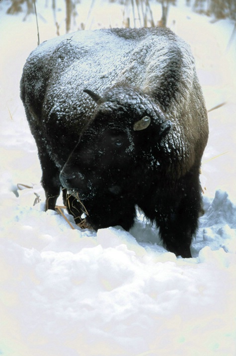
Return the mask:
<svg viewBox="0 0 236 356">
<path fill-rule="evenodd" d="M 60 190 L 78 222 L 129 230 L 139 207 L 166 248 L 191 257 L 208 140 L 189 46 L 167 28 L 78 31 L 28 57 L 21 99 L 46 209 Z"/>
</svg>

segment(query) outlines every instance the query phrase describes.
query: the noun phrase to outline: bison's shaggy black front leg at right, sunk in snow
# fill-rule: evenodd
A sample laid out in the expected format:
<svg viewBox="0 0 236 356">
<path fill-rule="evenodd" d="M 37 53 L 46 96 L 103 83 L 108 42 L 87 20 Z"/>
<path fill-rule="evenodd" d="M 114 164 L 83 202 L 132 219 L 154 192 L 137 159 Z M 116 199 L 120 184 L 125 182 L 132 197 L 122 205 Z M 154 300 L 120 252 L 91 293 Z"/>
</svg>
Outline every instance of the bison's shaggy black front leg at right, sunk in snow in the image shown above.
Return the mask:
<svg viewBox="0 0 236 356">
<path fill-rule="evenodd" d="M 166 248 L 176 256 L 191 257 L 190 245 L 198 227 L 201 189 L 198 172 L 178 182 L 172 196 L 156 209 L 156 223 Z"/>
</svg>

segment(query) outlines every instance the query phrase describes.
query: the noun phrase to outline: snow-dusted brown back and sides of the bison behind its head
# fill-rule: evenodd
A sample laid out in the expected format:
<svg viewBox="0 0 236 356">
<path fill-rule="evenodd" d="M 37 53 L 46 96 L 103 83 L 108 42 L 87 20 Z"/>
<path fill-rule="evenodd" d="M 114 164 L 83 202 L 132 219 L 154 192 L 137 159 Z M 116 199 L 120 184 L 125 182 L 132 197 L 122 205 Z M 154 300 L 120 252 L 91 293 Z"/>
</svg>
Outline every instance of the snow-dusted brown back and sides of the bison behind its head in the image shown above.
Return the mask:
<svg viewBox="0 0 236 356">
<path fill-rule="evenodd" d="M 84 89 L 101 96 L 110 90 L 110 97 L 114 96 L 116 102 L 119 96 L 121 105 L 128 102 L 132 116 L 139 119 L 146 112 L 158 121 L 159 114 L 154 112 L 149 97 L 143 99 L 134 90 L 124 90 L 124 85 L 157 98 L 165 119 L 173 123 L 162 149 L 176 160 L 176 176 L 189 171 L 207 142 L 206 109 L 190 47 L 168 29 L 100 29 L 77 31 L 60 40 L 56 37 L 30 54 L 21 83 L 22 100 L 30 112 L 34 112 L 32 103 L 38 108 L 44 103 L 40 109 L 45 122 L 44 143 L 56 157 L 56 164 L 62 160 L 60 146 L 68 146 L 68 142 L 54 135 L 55 130 L 59 132 L 60 127 L 60 131 L 73 131 L 79 136 L 84 119 L 87 123 L 93 115 L 94 103 Z M 128 113 L 127 121 L 133 119 L 130 117 Z M 35 120 L 39 119 L 36 113 Z M 124 128 L 123 122 L 121 125 Z"/>
</svg>

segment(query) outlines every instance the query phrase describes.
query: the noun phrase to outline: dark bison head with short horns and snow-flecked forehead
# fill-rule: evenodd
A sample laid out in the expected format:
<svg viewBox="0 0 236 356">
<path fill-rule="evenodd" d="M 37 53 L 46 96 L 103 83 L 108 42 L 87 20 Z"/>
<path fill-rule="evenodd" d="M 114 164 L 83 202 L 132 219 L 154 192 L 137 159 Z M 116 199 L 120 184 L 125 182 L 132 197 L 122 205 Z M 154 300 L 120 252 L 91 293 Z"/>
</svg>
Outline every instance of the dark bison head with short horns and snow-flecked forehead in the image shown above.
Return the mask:
<svg viewBox="0 0 236 356">
<path fill-rule="evenodd" d="M 171 122 L 152 97 L 134 88 L 116 87 L 103 97 L 84 92 L 97 107 L 61 172 L 62 185 L 81 200 L 123 197 L 157 165 L 159 143 Z"/>
</svg>

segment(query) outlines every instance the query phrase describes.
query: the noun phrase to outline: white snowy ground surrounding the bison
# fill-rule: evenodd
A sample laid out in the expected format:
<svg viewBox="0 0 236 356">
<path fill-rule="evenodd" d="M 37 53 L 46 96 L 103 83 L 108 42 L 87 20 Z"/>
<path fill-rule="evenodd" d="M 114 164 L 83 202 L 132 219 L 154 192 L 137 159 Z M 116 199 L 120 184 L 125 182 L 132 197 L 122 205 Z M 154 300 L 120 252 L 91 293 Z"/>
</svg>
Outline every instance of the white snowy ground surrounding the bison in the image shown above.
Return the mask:
<svg viewBox="0 0 236 356">
<path fill-rule="evenodd" d="M 44 3 L 37 1 L 41 42 L 56 35 Z M 122 7 L 97 0 L 86 19 L 89 4 L 81 0 L 78 23 L 121 24 Z M 206 213 L 193 258 L 182 259 L 162 247 L 142 216 L 129 233 L 96 234 L 72 230 L 62 216 L 42 210 L 41 170 L 18 89 L 37 45 L 35 18 L 5 15 L 9 5 L 0 1 L 0 355 L 235 356 L 234 23 L 211 23 L 183 7 L 169 14 L 168 26 L 192 47 L 207 108 L 226 102 L 209 113 Z M 153 12 L 159 19 L 158 5 Z"/>
</svg>

